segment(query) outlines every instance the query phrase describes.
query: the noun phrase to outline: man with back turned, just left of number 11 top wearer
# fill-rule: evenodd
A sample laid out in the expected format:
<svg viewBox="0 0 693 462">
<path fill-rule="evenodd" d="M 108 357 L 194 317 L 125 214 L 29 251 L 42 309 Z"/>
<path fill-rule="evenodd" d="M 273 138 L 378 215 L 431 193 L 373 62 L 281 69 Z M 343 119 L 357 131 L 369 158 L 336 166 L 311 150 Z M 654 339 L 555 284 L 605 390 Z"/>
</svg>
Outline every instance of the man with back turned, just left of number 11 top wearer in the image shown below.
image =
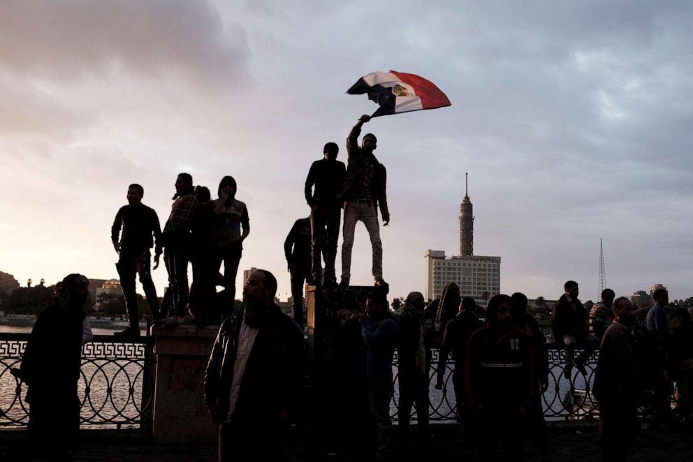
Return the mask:
<svg viewBox="0 0 693 462">
<path fill-rule="evenodd" d="M 436 389 L 442 389 L 446 371 L 448 354 L 452 353 L 455 360 L 453 369 L 453 388 L 455 391 L 455 403 L 462 431 L 465 432 L 465 440 L 472 435 L 472 410 L 469 408 L 467 398 L 467 343 L 472 332 L 481 327 L 482 323 L 474 314 L 476 301 L 472 297 L 465 297 L 460 303 L 458 315 L 448 321 L 443 334 L 443 341 L 438 356 L 438 371 L 435 382 Z"/>
</svg>

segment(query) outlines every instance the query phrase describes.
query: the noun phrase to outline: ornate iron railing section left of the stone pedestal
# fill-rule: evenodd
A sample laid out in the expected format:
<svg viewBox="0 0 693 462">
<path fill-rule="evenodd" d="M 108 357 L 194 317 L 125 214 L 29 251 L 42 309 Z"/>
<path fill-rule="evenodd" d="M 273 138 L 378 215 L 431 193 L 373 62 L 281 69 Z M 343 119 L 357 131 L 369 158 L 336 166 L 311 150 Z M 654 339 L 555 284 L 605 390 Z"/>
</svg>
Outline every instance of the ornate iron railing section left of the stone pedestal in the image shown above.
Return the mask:
<svg viewBox="0 0 693 462">
<path fill-rule="evenodd" d="M 20 367 L 29 334 L 0 334 L 0 428 L 26 426 L 27 387 L 10 370 Z M 154 339 L 119 341 L 95 336 L 82 347 L 78 382 L 81 426 L 92 429 L 147 427 L 154 402 Z"/>
</svg>

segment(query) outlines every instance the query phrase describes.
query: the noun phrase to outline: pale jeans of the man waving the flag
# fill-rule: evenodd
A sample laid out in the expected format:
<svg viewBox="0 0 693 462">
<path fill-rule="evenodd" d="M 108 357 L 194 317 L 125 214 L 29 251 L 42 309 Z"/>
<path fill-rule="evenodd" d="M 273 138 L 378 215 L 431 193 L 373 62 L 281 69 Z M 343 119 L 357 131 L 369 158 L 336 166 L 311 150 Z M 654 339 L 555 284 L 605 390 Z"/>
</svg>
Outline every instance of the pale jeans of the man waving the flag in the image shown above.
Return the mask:
<svg viewBox="0 0 693 462">
<path fill-rule="evenodd" d="M 344 204 L 344 227 L 342 228 L 342 279 L 351 278 L 351 247 L 356 222 L 363 221 L 370 236 L 373 249 L 373 278 L 383 277 L 383 243 L 380 240 L 378 211 L 374 202 L 346 202 Z"/>
</svg>

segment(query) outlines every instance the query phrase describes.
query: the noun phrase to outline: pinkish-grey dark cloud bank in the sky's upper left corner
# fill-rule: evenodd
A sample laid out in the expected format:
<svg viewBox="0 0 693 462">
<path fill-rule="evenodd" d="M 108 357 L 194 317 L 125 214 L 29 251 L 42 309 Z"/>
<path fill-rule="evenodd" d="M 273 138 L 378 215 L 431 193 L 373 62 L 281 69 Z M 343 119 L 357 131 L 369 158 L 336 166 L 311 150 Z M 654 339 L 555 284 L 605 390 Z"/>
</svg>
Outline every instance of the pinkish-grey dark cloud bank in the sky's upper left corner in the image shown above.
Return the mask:
<svg viewBox="0 0 693 462">
<path fill-rule="evenodd" d="M 73 80 L 182 73 L 209 83 L 246 77 L 245 31 L 207 1 L 3 1 L 0 62 L 27 77 Z"/>
</svg>

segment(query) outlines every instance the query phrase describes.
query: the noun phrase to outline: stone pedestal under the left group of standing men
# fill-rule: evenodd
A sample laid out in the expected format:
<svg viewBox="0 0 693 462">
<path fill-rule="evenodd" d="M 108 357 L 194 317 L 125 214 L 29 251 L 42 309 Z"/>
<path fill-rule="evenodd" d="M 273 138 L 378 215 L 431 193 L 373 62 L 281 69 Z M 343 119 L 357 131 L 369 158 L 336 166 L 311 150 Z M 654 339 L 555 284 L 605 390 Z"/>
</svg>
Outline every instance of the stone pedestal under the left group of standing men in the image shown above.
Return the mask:
<svg viewBox="0 0 693 462">
<path fill-rule="evenodd" d="M 218 326 L 152 326 L 156 338 L 154 442 L 210 443 L 217 440 L 203 396 L 205 368 Z"/>
</svg>

